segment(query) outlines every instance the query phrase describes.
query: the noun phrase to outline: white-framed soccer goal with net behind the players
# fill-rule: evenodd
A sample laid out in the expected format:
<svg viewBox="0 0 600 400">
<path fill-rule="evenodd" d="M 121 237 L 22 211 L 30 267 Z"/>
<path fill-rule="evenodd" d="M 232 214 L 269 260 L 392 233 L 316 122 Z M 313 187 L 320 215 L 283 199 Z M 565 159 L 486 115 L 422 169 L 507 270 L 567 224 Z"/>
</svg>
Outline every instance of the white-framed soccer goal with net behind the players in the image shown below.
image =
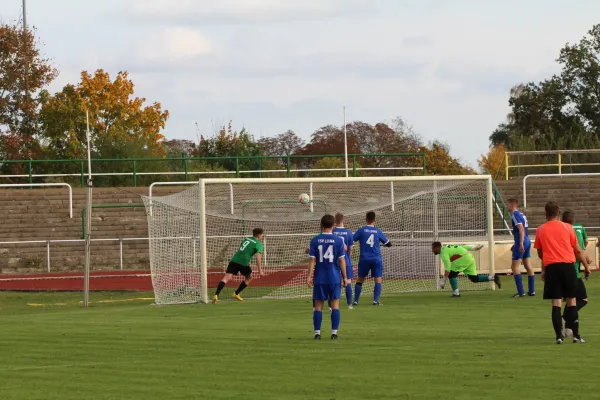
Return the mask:
<svg viewBox="0 0 600 400">
<path fill-rule="evenodd" d="M 303 204 L 298 196 L 304 193 L 310 201 Z M 433 241 L 483 244 L 474 254 L 479 272 L 494 273 L 489 176 L 203 179 L 180 193 L 144 201 L 157 304 L 207 302 L 256 227 L 265 232 L 265 275 L 254 274 L 244 297 L 310 297 L 305 249 L 325 213 L 343 213 L 346 227 L 355 231 L 375 211 L 376 225 L 392 242 L 382 248 L 384 295 L 440 290 L 443 267 L 431 252 Z M 358 257 L 355 246 L 355 270 Z M 228 283 L 222 299 L 240 279 Z M 465 278 L 459 282 L 463 291 L 492 288 Z M 367 281 L 363 293 L 372 289 Z"/>
</svg>

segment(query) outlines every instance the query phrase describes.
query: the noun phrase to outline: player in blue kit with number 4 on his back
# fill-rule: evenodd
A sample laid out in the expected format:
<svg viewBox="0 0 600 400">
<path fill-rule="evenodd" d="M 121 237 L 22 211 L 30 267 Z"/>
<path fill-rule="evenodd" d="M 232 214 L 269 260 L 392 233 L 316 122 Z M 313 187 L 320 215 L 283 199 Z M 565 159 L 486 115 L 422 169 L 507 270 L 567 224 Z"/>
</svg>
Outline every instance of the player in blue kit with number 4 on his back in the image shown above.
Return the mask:
<svg viewBox="0 0 600 400">
<path fill-rule="evenodd" d="M 367 213 L 367 226 L 364 226 L 354 233 L 353 239 L 360 243 L 360 258 L 358 259 L 358 279 L 354 285 L 354 305 L 358 305 L 362 285 L 369 272 L 375 281 L 373 292 L 373 305 L 378 306 L 381 297 L 383 281 L 383 259 L 381 258 L 380 244 L 390 247 L 392 244 L 385 237 L 383 232 L 375 227 L 375 213 Z"/>
</svg>

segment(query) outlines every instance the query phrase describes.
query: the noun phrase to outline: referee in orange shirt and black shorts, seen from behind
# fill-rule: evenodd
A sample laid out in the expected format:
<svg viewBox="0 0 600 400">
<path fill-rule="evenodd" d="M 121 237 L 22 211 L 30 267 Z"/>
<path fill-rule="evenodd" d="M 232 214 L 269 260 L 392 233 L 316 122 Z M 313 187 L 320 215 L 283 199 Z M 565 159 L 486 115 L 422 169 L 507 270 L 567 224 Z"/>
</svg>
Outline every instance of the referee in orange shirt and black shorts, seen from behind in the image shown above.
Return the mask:
<svg viewBox="0 0 600 400">
<path fill-rule="evenodd" d="M 544 281 L 544 299 L 552 300 L 552 325 L 556 333 L 556 344 L 563 343 L 562 334 L 562 299 L 567 301 L 565 322 L 572 326 L 573 343 L 585 343 L 579 336 L 579 315 L 577 311 L 577 275 L 573 264 L 577 255 L 587 267 L 587 258 L 577 243 L 572 226 L 559 221 L 558 204 L 546 203 L 547 222 L 539 226 L 535 232 L 535 245 L 538 256 L 542 259 L 542 280 Z"/>
</svg>

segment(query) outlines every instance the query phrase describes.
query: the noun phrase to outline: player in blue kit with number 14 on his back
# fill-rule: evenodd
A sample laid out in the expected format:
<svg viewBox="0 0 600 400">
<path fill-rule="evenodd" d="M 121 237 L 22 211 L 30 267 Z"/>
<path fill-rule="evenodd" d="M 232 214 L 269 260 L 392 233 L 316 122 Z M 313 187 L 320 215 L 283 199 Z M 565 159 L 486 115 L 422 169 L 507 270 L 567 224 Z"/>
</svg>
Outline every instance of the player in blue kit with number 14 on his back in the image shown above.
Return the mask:
<svg viewBox="0 0 600 400">
<path fill-rule="evenodd" d="M 323 304 L 331 306 L 331 338 L 338 338 L 340 327 L 340 294 L 346 284 L 346 252 L 344 239 L 333 234 L 335 218 L 325 215 L 321 218 L 321 234 L 310 241 L 308 263 L 308 286 L 313 288 L 313 325 L 315 340 L 321 339 Z M 313 277 L 314 272 L 314 277 Z"/>
</svg>

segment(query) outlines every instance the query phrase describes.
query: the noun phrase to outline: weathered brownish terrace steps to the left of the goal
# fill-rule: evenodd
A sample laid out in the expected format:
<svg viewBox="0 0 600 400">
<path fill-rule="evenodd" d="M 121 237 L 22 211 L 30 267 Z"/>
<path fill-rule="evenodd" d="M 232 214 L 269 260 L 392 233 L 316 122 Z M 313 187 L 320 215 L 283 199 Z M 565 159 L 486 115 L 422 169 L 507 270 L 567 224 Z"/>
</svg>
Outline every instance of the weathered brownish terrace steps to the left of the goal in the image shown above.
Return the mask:
<svg viewBox="0 0 600 400">
<path fill-rule="evenodd" d="M 184 187 L 156 188 L 158 195 L 176 193 Z M 141 204 L 148 188 L 95 188 L 94 205 Z M 69 198 L 65 188 L 1 189 L 0 242 L 79 240 L 82 237 L 81 213 L 86 190 L 73 189 L 73 218 L 69 218 Z M 95 208 L 92 213 L 94 239 L 131 239 L 148 236 L 144 207 Z M 125 269 L 148 269 L 147 240 L 123 240 Z M 121 264 L 118 240 L 94 242 L 94 270 L 114 270 Z M 53 272 L 81 271 L 84 261 L 83 242 L 50 245 Z M 29 273 L 47 270 L 46 243 L 0 244 L 0 273 Z"/>
</svg>

